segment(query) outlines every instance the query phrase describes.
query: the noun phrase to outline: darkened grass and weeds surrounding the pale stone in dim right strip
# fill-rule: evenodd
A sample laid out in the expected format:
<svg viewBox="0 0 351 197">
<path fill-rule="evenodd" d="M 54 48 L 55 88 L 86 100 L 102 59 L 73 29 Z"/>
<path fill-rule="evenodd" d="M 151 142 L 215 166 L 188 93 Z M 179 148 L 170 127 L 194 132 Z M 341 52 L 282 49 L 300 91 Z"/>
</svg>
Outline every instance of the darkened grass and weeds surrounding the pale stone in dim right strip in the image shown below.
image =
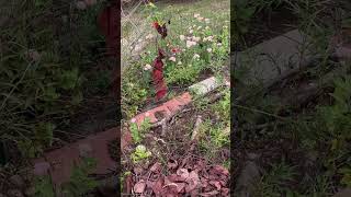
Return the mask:
<svg viewBox="0 0 351 197">
<path fill-rule="evenodd" d="M 246 3 L 250 16 L 244 21 L 260 15 L 262 10 L 257 10 L 257 4 Z M 261 83 L 250 86 L 251 91 L 240 83 L 246 78 L 245 72 L 234 74 L 236 95 L 239 95 L 233 102 L 239 121 L 236 140 L 231 141 L 236 144 L 235 172 L 250 178 L 257 175 L 254 184 L 249 186 L 253 196 L 332 196 L 350 187 L 351 154 L 347 142 L 350 138 L 350 60 L 336 57 L 332 37 L 337 35 L 339 44 L 348 45 L 351 7 L 348 1 L 284 0 L 275 3 L 283 4 L 298 19 L 288 25 L 309 36 L 310 42 L 305 45 L 314 48 L 315 59 L 271 86 Z M 269 5 L 263 12 L 274 12 L 274 9 Z M 241 28 L 254 30 L 252 21 Z M 244 24 L 238 22 L 237 25 Z M 245 34 L 251 32 L 241 32 L 238 36 L 250 37 Z M 316 88 L 307 89 L 306 84 Z M 248 170 L 245 167 L 248 164 L 256 167 Z M 236 179 L 238 193 L 238 185 L 242 183 Z"/>
</svg>

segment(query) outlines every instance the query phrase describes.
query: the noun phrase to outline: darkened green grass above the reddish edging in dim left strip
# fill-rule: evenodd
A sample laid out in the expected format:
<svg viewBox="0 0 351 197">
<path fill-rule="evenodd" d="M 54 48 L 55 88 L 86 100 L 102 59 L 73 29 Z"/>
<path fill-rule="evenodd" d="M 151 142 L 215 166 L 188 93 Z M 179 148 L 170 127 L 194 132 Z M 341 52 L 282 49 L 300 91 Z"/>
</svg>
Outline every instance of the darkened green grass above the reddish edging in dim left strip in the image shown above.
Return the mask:
<svg viewBox="0 0 351 197">
<path fill-rule="evenodd" d="M 57 5 L 14 0 L 1 8 L 15 18 L 0 30 L 0 139 L 18 144 L 23 157 L 50 147 L 56 129 L 69 126 L 93 90 L 106 90 L 105 76 L 91 78 L 92 48 L 103 40 L 95 22 L 103 1 L 84 11 L 66 3 L 52 13 Z"/>
</svg>

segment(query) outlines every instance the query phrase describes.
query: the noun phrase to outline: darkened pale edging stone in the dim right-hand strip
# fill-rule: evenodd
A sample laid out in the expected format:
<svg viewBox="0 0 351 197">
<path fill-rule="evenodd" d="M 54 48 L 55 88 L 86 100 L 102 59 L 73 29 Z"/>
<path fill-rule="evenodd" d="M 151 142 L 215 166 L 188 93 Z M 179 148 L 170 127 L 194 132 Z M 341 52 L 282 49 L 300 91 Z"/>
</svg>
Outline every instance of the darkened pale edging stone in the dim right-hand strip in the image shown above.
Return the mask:
<svg viewBox="0 0 351 197">
<path fill-rule="evenodd" d="M 308 37 L 298 30 L 291 31 L 238 53 L 235 69 L 237 72 L 241 70 L 248 73 L 244 81 L 246 84 L 267 83 L 302 63 L 309 62 L 309 50 L 305 49 L 304 56 L 301 56 L 302 48 L 308 42 Z"/>
</svg>

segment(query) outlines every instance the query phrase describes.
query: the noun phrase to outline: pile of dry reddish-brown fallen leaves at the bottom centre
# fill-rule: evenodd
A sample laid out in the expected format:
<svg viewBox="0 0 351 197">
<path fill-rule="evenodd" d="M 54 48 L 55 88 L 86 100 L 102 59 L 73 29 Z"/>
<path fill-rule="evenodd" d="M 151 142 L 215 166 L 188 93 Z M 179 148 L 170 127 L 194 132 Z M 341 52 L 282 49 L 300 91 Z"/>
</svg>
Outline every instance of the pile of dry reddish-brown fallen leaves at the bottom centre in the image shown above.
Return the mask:
<svg viewBox="0 0 351 197">
<path fill-rule="evenodd" d="M 184 163 L 185 162 L 185 163 Z M 179 165 L 181 163 L 181 165 Z M 204 160 L 182 159 L 168 161 L 162 173 L 159 162 L 138 174 L 133 192 L 151 196 L 229 196 L 229 172 L 222 165 L 206 165 Z"/>
</svg>

